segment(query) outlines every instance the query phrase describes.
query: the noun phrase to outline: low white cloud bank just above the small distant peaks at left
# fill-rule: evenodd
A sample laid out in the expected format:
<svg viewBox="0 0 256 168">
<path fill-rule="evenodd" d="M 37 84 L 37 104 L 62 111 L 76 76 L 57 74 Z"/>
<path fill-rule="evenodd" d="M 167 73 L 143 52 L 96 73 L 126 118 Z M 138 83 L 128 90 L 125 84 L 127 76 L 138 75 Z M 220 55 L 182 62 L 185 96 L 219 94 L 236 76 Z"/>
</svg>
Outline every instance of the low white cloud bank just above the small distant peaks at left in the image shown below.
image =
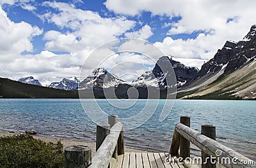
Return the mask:
<svg viewBox="0 0 256 168">
<path fill-rule="evenodd" d="M 5 67 L 3 72 L 0 72 L 0 76 L 17 80 L 20 77 L 33 75 L 45 86 L 52 81 L 60 81 L 63 77 L 74 75 L 78 77 L 80 68 L 77 66 L 77 60 L 73 58 L 69 54 L 56 55 L 43 50 L 40 54 L 24 55 L 10 63 L 4 63 Z"/>
</svg>

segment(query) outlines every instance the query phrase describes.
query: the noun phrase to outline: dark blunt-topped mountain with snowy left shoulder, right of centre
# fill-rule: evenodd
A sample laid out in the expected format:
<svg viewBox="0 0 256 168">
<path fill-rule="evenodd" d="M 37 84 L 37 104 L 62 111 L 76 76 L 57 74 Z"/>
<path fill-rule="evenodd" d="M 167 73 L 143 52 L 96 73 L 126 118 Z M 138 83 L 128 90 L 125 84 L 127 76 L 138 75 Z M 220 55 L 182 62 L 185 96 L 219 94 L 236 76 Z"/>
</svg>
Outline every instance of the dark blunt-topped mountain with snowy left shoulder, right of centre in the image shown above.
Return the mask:
<svg viewBox="0 0 256 168">
<path fill-rule="evenodd" d="M 173 74 L 172 67 L 175 74 Z M 192 80 L 197 72 L 198 69 L 195 67 L 185 66 L 168 56 L 163 56 L 157 60 L 156 66 L 151 72 L 143 73 L 138 79 L 132 81 L 132 85 L 135 87 L 152 86 L 165 88 L 171 85 L 168 81 L 175 82 L 171 78 L 176 75 L 177 87 L 179 87 Z"/>
</svg>

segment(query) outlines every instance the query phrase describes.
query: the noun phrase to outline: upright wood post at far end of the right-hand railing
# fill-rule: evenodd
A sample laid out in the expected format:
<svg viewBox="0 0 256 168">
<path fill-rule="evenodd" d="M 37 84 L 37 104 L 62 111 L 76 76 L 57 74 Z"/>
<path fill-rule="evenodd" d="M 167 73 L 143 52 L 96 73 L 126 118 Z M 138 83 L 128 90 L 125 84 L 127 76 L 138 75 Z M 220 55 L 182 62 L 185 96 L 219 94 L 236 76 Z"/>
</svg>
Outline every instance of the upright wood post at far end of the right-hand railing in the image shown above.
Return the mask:
<svg viewBox="0 0 256 168">
<path fill-rule="evenodd" d="M 180 123 L 190 127 L 190 116 L 181 116 Z M 180 157 L 183 160 L 190 157 L 190 142 L 182 136 L 180 136 Z"/>
</svg>

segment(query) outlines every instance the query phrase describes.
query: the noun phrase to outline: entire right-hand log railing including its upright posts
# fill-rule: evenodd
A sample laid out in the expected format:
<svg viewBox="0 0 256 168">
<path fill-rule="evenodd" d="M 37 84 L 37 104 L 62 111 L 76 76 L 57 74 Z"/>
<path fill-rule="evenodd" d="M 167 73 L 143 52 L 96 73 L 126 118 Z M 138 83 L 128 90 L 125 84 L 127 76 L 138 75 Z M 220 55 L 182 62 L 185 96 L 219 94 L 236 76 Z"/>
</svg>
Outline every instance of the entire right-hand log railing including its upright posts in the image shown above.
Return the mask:
<svg viewBox="0 0 256 168">
<path fill-rule="evenodd" d="M 202 125 L 202 134 L 189 126 L 190 117 L 182 116 L 180 123 L 175 126 L 170 148 L 170 155 L 183 158 L 185 165 L 185 158 L 190 158 L 191 142 L 202 150 L 202 168 L 216 167 L 216 163 L 225 167 L 255 167 L 249 158 L 215 141 L 216 128 L 214 125 Z M 210 162 L 210 156 L 214 158 L 215 163 Z M 186 165 L 186 167 L 191 167 L 191 165 Z"/>
</svg>

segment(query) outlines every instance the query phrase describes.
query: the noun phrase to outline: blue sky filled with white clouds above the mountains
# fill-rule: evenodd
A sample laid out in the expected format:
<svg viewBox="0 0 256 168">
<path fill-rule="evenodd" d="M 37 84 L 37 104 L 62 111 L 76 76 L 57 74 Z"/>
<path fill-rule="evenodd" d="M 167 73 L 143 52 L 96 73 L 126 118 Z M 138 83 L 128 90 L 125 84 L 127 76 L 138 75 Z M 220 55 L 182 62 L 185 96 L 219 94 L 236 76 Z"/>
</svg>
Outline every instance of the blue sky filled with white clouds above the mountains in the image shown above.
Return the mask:
<svg viewBox="0 0 256 168">
<path fill-rule="evenodd" d="M 164 54 L 200 68 L 226 40 L 241 40 L 256 18 L 255 1 L 0 0 L 0 5 L 0 76 L 17 80 L 33 75 L 44 85 L 79 76 L 93 50 L 125 37 L 147 40 Z M 123 55 L 122 60 L 145 63 L 145 57 Z M 115 59 L 104 65 L 115 65 Z"/>
</svg>

